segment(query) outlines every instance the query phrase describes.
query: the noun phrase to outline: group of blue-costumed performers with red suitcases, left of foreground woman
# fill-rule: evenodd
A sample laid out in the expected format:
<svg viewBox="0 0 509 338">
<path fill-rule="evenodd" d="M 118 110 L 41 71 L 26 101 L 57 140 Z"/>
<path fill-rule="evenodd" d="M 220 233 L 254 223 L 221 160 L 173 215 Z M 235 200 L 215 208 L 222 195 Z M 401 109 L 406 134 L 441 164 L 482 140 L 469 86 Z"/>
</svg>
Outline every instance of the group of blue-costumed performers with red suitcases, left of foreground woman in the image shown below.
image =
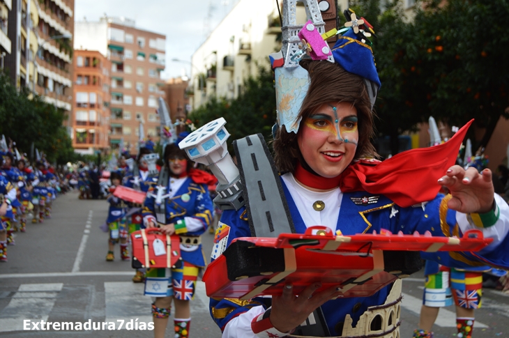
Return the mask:
<svg viewBox="0 0 509 338">
<path fill-rule="evenodd" d="M 182 260 L 175 268 L 138 268 L 132 277 L 132 282 L 145 282 L 144 294 L 154 298 L 151 313 L 155 337 L 164 337 L 172 303 L 174 337 L 188 337 L 189 301 L 206 266 L 200 235 L 207 229 L 213 232 L 214 209 L 209 187 L 213 190 L 217 180 L 193 167 L 185 151 L 178 148 L 176 143 L 186 135 L 188 132 L 182 132 L 174 143 L 165 146 L 160 160 L 153 144 L 144 143 L 135 159 L 123 153 L 116 167 L 109 171 L 109 210 L 102 226 L 109 233 L 107 261 L 114 261 L 116 244 L 119 244 L 121 260 L 130 260 L 130 234 L 139 229 L 157 226 L 162 233 L 180 237 Z M 119 185 L 146 194 L 144 203 L 137 205 L 116 197 L 114 191 Z M 156 216 L 160 211 L 156 203 L 158 190 L 165 204 L 159 217 Z"/>
</svg>

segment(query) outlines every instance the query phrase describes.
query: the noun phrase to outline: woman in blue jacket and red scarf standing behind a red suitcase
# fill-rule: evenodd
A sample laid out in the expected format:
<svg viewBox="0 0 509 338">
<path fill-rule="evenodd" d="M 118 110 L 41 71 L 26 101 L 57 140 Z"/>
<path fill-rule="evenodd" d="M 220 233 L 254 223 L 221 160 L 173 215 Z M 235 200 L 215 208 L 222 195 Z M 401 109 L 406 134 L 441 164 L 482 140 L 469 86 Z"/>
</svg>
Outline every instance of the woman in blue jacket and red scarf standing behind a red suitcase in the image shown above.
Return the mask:
<svg viewBox="0 0 509 338">
<path fill-rule="evenodd" d="M 160 225 L 163 233 L 181 237 L 181 266 L 169 269 L 149 269 L 146 274 L 145 294 L 156 297 L 152 305 L 155 338 L 165 337 L 172 307 L 175 305 L 174 329 L 176 338 L 187 338 L 190 328 L 189 301 L 195 293 L 199 270 L 206 266 L 201 235 L 213 218 L 212 201 L 207 185 L 213 176 L 192 169 L 192 162 L 175 144 L 165 148 L 165 167 L 161 170 L 158 186 L 148 194 L 143 216 L 147 228 Z M 165 174 L 166 173 L 166 174 Z M 168 194 L 165 213 L 157 217 L 155 190 Z M 161 286 L 162 285 L 162 286 Z M 173 336 L 172 336 L 173 337 Z"/>
</svg>

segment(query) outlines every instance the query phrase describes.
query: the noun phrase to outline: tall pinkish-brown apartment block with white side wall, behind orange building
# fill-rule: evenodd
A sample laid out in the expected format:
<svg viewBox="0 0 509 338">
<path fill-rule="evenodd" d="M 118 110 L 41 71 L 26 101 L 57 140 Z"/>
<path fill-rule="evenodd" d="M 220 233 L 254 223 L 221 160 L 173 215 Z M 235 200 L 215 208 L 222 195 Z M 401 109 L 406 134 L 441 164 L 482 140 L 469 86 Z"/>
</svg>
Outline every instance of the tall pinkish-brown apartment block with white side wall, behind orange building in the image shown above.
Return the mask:
<svg viewBox="0 0 509 338">
<path fill-rule="evenodd" d="M 134 154 L 139 122 L 144 135 L 158 137 L 158 97 L 165 95 L 160 72 L 165 70 L 166 37 L 139 29 L 133 20 L 102 17 L 100 22 L 76 22 L 75 49 L 97 50 L 111 62 L 110 144 L 123 138 Z"/>
</svg>

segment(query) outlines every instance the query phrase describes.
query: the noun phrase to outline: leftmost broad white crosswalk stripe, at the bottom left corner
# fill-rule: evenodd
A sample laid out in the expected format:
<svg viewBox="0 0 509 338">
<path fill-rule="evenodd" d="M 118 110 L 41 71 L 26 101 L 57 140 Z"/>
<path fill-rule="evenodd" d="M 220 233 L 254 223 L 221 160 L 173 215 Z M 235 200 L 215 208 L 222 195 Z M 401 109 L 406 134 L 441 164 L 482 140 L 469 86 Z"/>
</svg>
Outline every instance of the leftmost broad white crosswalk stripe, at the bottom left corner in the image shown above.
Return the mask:
<svg viewBox="0 0 509 338">
<path fill-rule="evenodd" d="M 22 331 L 26 319 L 47 321 L 62 286 L 62 283 L 21 284 L 0 312 L 0 332 Z"/>
</svg>

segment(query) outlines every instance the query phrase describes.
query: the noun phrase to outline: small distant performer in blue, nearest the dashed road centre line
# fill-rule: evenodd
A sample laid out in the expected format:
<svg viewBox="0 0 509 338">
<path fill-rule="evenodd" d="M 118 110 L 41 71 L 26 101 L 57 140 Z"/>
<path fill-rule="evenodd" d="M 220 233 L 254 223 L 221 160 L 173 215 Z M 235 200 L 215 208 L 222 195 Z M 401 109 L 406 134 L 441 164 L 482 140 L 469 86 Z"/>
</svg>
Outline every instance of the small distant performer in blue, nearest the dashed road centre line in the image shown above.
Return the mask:
<svg viewBox="0 0 509 338">
<path fill-rule="evenodd" d="M 109 179 L 112 181 L 110 191 L 114 192 L 115 188 L 122 182 L 122 174 L 119 171 L 112 171 Z M 109 203 L 109 209 L 106 224 L 109 229 L 109 239 L 106 261 L 114 261 L 114 247 L 115 244 L 119 242 L 121 259 L 122 261 L 128 261 L 130 256 L 127 242 L 128 229 L 125 218 L 127 205 L 124 201 L 118 197 L 114 197 L 112 194 L 108 195 L 107 201 Z"/>
</svg>

